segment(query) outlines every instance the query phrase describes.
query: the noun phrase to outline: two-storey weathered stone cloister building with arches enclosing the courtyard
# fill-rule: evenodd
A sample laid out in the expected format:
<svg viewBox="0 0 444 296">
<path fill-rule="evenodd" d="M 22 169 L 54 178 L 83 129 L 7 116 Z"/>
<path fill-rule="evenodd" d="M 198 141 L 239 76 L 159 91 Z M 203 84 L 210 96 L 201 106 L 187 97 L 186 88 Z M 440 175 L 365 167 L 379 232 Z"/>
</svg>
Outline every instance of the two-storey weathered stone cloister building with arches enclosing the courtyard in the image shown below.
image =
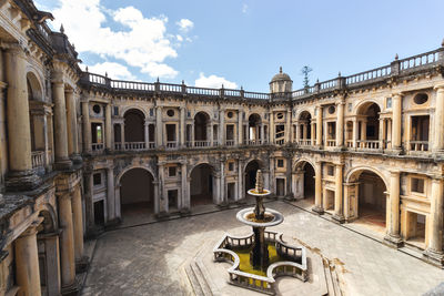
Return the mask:
<svg viewBox="0 0 444 296">
<path fill-rule="evenodd" d="M 293 91 L 82 72 L 29 0 L 0 3 L 0 295 L 73 294 L 83 236 L 147 215 L 275 198 L 443 264 L 444 45 Z"/>
</svg>

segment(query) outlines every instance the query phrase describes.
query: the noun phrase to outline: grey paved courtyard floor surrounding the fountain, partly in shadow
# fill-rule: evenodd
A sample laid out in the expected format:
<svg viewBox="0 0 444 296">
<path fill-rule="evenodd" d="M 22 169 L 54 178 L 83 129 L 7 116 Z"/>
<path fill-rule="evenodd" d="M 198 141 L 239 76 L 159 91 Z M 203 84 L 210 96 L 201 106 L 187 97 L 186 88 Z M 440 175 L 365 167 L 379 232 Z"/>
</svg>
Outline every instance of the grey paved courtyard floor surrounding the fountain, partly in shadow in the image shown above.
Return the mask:
<svg viewBox="0 0 444 296">
<path fill-rule="evenodd" d="M 336 262 L 346 295 L 422 295 L 444 280 L 444 271 L 392 249 L 284 202 L 266 203 L 284 214 L 273 231 L 284 239 Z M 249 234 L 239 208 L 120 228 L 103 234 L 82 295 L 189 295 L 184 265 L 202 246 L 228 232 Z M 226 265 L 229 266 L 229 265 Z M 220 275 L 228 278 L 228 274 Z M 294 279 L 297 280 L 297 279 Z M 243 295 L 240 288 L 239 294 Z M 297 292 L 294 292 L 297 295 Z"/>
</svg>

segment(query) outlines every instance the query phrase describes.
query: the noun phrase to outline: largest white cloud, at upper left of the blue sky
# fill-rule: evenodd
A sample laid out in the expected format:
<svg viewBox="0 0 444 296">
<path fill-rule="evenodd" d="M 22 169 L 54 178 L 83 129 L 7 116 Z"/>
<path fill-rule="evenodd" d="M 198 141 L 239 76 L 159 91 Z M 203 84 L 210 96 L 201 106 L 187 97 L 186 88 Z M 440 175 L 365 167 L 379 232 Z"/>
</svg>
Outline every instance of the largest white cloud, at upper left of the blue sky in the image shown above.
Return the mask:
<svg viewBox="0 0 444 296">
<path fill-rule="evenodd" d="M 58 2 L 59 7 L 52 11 L 56 17 L 54 27 L 59 28 L 60 22 L 63 22 L 65 33 L 79 52 L 121 60 L 128 65 L 140 68 L 141 72 L 152 78 L 174 78 L 178 74 L 178 71 L 165 63 L 167 59 L 178 57 L 170 41 L 175 39 L 167 34 L 168 18 L 145 18 L 134 7 L 109 10 L 101 6 L 100 0 Z M 113 30 L 107 27 L 105 22 L 110 20 L 127 29 Z M 193 23 L 185 20 L 183 25 L 190 29 Z"/>
</svg>

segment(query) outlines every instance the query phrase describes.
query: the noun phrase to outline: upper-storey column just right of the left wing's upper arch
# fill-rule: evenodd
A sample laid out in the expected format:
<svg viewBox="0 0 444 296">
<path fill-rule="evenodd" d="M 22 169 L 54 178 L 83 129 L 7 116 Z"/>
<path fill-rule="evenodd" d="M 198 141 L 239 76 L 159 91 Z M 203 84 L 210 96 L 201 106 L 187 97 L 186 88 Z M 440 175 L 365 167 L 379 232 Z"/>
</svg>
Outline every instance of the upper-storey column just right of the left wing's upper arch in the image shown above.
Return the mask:
<svg viewBox="0 0 444 296">
<path fill-rule="evenodd" d="M 69 169 L 72 163 L 68 157 L 68 129 L 64 84 L 62 73 L 52 81 L 52 96 L 54 101 L 54 140 L 56 140 L 56 167 Z"/>
</svg>

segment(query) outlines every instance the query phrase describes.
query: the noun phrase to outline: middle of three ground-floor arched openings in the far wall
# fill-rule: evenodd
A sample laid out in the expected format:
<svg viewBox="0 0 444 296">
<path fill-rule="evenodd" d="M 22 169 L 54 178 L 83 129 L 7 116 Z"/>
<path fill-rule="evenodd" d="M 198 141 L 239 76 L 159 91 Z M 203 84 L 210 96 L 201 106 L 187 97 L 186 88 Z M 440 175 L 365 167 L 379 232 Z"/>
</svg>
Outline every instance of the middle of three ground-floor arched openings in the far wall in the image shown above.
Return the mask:
<svg viewBox="0 0 444 296">
<path fill-rule="evenodd" d="M 191 206 L 213 203 L 214 169 L 208 163 L 199 164 L 191 171 Z"/>
</svg>

